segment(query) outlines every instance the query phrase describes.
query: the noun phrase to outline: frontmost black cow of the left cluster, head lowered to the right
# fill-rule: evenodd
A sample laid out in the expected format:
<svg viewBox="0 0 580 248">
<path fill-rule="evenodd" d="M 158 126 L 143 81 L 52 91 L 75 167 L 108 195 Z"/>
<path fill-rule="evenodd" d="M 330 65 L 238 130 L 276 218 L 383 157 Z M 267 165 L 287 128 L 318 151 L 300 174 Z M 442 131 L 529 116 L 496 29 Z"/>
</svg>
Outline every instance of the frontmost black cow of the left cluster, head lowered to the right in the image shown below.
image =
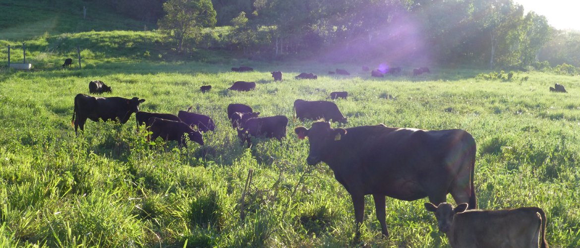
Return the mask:
<svg viewBox="0 0 580 248">
<path fill-rule="evenodd" d="M 191 129 L 189 125 L 181 121 L 151 117 L 147 120 L 147 127 L 153 133 L 151 134 L 151 141 L 155 141 L 157 137 L 161 137 L 165 141 L 177 141 L 179 148 L 184 146 L 187 149 L 187 143 L 184 138 L 184 134 L 187 134 L 190 141 L 204 145 L 204 136 L 201 135 L 201 132 Z"/>
</svg>

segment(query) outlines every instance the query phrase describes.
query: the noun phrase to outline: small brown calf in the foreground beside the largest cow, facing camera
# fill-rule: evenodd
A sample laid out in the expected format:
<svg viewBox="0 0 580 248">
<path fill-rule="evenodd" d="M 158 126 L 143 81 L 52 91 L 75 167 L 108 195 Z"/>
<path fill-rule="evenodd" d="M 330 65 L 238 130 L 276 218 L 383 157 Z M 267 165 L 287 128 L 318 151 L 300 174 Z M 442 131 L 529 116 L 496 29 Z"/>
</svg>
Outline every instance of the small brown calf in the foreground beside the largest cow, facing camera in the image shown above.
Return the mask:
<svg viewBox="0 0 580 248">
<path fill-rule="evenodd" d="M 468 210 L 468 204 L 425 203 L 451 247 L 548 247 L 546 214 L 539 207 Z"/>
</svg>

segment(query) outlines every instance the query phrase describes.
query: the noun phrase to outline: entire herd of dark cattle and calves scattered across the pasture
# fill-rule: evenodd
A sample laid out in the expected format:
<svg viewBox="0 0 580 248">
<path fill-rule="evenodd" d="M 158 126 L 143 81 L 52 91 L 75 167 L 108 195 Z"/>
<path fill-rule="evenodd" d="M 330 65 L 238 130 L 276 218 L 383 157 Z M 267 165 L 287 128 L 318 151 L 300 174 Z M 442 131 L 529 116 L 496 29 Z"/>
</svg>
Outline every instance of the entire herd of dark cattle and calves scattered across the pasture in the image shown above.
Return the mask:
<svg viewBox="0 0 580 248">
<path fill-rule="evenodd" d="M 242 66 L 231 70 L 253 69 Z M 420 73 L 429 72 L 426 67 L 418 70 Z M 372 70 L 372 73 L 375 71 L 378 70 Z M 383 72 L 378 71 L 381 75 Z M 334 73 L 348 72 L 337 69 Z M 280 71 L 271 74 L 275 81 L 282 79 Z M 317 76 L 302 73 L 296 78 L 316 79 Z M 255 82 L 238 81 L 229 89 L 249 91 L 255 87 Z M 202 92 L 209 89 L 210 85 L 200 88 Z M 111 92 L 111 87 L 102 81 L 90 81 L 89 92 Z M 346 97 L 347 92 L 331 94 L 332 99 Z M 190 112 L 191 107 L 187 111 L 179 111 L 177 116 L 141 112 L 139 105 L 144 101 L 136 97 L 128 99 L 78 94 L 74 98 L 72 121 L 75 132 L 78 127 L 84 131 L 87 118 L 92 121 L 115 120 L 124 124 L 132 113 L 136 113 L 137 128 L 145 124 L 151 133 L 151 140 L 161 137 L 166 141 L 177 141 L 179 147 L 187 148 L 185 136 L 204 145 L 202 132 L 216 128 L 212 118 Z M 324 118 L 332 122 L 347 122 L 338 106 L 325 100 L 297 99 L 293 111 L 300 121 Z M 237 130 L 242 145 L 247 142 L 250 147 L 251 137 L 280 140 L 286 136 L 286 116 L 259 117 L 259 114 L 241 103 L 227 106 L 227 118 L 231 127 Z M 548 247 L 545 240 L 546 215 L 542 209 L 476 210 L 473 183 L 476 142 L 465 130 L 429 131 L 391 128 L 383 124 L 332 128 L 330 122 L 317 121 L 310 128 L 296 127 L 294 131 L 299 139 L 308 138 L 310 150 L 307 164 L 328 164 L 336 180 L 349 192 L 354 206 L 357 238 L 360 237 L 359 228 L 364 216 L 365 195 L 374 198 L 376 218 L 385 236 L 389 235 L 386 196 L 405 201 L 428 197 L 425 208 L 435 214 L 439 230 L 447 235 L 452 247 Z M 446 203 L 448 194 L 458 206 Z"/>
</svg>

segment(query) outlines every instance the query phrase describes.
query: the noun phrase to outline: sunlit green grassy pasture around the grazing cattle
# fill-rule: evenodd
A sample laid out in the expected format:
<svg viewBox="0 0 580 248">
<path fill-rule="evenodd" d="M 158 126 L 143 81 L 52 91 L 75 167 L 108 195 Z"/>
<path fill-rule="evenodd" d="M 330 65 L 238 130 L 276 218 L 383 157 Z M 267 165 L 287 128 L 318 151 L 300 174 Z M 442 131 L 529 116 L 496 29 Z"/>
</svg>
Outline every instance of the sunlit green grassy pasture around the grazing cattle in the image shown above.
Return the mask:
<svg viewBox="0 0 580 248">
<path fill-rule="evenodd" d="M 256 71 L 230 71 L 241 63 Z M 336 68 L 352 74 L 327 75 Z M 275 70 L 283 81 L 270 77 Z M 312 121 L 292 121 L 295 99 L 348 91 L 348 99 L 336 100 L 349 118 L 344 127 L 383 123 L 470 132 L 477 143 L 478 207 L 542 207 L 550 245 L 579 247 L 580 78 L 522 72 L 499 81 L 477 79 L 488 71 L 466 68 L 432 68 L 418 77 L 408 76 L 410 67 L 403 70 L 403 76 L 371 78 L 356 64 L 139 59 L 92 60 L 84 70 L 2 69 L 0 245 L 448 246 L 423 208 L 427 199 L 387 197 L 391 236 L 382 238 L 371 196 L 362 237 L 354 241 L 349 194 L 327 165 L 306 165 L 309 145 L 293 133 Z M 295 80 L 300 72 L 318 80 Z M 104 96 L 146 99 L 144 111 L 176 114 L 193 106 L 213 118 L 216 131 L 204 134 L 205 146 L 190 142 L 179 150 L 176 142 L 158 139 L 150 149 L 133 115 L 124 125 L 89 120 L 76 136 L 73 98 L 88 94 L 90 80 L 113 88 Z M 256 90 L 227 91 L 238 80 L 255 81 Z M 549 92 L 554 82 L 568 93 Z M 201 94 L 206 84 L 213 88 Z M 248 104 L 260 116 L 287 116 L 287 138 L 241 146 L 226 118 L 229 103 Z"/>
</svg>

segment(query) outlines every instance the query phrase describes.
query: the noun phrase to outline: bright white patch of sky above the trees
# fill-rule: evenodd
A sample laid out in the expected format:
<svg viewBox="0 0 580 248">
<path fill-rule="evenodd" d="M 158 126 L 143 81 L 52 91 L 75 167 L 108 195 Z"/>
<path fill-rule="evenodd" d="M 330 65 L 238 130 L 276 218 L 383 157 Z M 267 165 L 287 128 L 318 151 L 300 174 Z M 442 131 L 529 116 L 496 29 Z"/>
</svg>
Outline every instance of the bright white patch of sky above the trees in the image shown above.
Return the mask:
<svg viewBox="0 0 580 248">
<path fill-rule="evenodd" d="M 556 29 L 580 31 L 579 0 L 513 0 L 524 6 L 524 12 L 533 11 L 546 16 L 550 26 Z"/>
</svg>

